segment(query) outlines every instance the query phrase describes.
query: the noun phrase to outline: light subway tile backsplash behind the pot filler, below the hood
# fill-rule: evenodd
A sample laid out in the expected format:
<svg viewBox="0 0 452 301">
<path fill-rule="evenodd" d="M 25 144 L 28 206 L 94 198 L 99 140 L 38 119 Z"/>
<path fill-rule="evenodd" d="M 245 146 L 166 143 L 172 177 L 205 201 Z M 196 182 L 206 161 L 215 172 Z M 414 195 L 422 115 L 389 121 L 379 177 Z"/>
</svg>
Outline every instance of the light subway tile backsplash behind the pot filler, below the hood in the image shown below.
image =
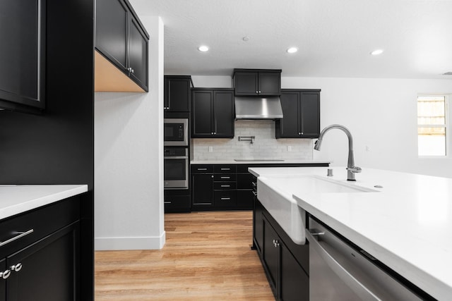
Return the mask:
<svg viewBox="0 0 452 301">
<path fill-rule="evenodd" d="M 239 141 L 240 136 L 255 136 L 254 142 Z M 195 161 L 233 159 L 311 160 L 311 139 L 275 139 L 275 121 L 235 121 L 233 139 L 193 139 L 191 157 Z"/>
</svg>

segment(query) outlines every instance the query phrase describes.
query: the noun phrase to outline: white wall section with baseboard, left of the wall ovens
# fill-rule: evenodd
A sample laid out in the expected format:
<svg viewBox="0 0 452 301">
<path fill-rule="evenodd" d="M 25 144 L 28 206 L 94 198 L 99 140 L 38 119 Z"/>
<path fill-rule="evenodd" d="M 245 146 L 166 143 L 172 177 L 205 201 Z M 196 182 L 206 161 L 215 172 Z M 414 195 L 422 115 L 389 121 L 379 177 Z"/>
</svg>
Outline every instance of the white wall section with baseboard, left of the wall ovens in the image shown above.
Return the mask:
<svg viewBox="0 0 452 301">
<path fill-rule="evenodd" d="M 163 219 L 163 24 L 150 35 L 149 92 L 95 93 L 95 250 L 160 249 Z"/>
</svg>

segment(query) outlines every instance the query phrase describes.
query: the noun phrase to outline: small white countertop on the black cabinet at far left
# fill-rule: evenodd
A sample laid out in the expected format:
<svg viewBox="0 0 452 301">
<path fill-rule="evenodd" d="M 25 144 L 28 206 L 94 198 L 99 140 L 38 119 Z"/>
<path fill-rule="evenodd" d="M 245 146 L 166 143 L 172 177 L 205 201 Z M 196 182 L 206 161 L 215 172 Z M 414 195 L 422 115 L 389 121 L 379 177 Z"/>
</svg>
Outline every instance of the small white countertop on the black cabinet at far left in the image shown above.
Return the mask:
<svg viewBox="0 0 452 301">
<path fill-rule="evenodd" d="M 0 185 L 0 219 L 88 191 L 88 185 Z"/>
</svg>

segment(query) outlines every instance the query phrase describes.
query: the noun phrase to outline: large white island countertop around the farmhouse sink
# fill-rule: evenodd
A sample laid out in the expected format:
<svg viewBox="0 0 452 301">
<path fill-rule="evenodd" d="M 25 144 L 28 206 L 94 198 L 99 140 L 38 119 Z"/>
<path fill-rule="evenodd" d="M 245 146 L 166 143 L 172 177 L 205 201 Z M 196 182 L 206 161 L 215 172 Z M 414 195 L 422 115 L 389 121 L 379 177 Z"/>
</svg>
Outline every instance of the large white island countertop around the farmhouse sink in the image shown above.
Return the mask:
<svg viewBox="0 0 452 301">
<path fill-rule="evenodd" d="M 379 190 L 309 193 L 293 188 L 287 193 L 299 207 L 422 290 L 438 300 L 451 300 L 452 178 L 363 168 L 355 174 L 357 181 L 350 182 L 345 167 L 334 167 L 333 177 L 326 176 L 327 167 L 249 170 L 266 185 L 272 176 L 315 175 Z"/>
</svg>

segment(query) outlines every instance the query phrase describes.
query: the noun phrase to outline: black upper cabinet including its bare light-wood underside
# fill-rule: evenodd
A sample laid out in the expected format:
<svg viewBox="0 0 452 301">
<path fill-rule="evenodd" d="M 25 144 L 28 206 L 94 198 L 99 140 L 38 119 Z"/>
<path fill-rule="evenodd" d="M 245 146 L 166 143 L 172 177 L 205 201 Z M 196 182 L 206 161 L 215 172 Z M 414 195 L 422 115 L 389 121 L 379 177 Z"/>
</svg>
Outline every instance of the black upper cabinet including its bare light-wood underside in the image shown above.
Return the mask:
<svg viewBox="0 0 452 301">
<path fill-rule="evenodd" d="M 95 23 L 95 91 L 147 92 L 149 35 L 129 1 L 97 0 Z"/>
</svg>

